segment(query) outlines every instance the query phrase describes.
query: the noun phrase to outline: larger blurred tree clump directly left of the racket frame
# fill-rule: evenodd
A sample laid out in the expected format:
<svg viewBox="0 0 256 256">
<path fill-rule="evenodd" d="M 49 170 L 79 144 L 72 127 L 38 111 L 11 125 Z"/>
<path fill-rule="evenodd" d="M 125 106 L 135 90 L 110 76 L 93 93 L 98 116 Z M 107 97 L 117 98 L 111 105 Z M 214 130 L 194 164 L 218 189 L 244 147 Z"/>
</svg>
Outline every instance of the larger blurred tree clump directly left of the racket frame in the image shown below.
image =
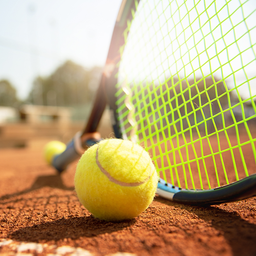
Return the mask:
<svg viewBox="0 0 256 256">
<path fill-rule="evenodd" d="M 48 106 L 83 106 L 92 101 L 102 69 L 66 61 L 49 77 L 37 77 L 28 102 Z"/>
</svg>

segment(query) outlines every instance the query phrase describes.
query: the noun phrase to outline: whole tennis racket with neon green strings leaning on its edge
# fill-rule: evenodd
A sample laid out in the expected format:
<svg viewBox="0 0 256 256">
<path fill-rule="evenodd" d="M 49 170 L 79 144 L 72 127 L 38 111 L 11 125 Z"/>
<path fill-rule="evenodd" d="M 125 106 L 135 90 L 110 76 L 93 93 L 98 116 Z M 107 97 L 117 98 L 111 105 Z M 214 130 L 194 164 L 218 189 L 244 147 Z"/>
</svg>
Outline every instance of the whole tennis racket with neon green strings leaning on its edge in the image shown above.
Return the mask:
<svg viewBox="0 0 256 256">
<path fill-rule="evenodd" d="M 115 136 L 150 152 L 160 196 L 256 195 L 256 2 L 123 0 L 89 121 L 57 170 L 100 139 L 106 105 Z"/>
</svg>

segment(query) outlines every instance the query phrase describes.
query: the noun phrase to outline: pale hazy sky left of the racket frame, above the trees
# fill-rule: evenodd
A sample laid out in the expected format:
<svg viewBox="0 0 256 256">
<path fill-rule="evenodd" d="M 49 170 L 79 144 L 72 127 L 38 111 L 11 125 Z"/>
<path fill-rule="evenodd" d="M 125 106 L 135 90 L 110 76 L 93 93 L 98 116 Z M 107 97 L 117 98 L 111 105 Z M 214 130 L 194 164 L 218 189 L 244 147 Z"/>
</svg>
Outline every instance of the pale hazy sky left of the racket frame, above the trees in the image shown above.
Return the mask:
<svg viewBox="0 0 256 256">
<path fill-rule="evenodd" d="M 122 0 L 0 0 L 0 80 L 25 99 L 66 60 L 103 66 Z"/>
</svg>

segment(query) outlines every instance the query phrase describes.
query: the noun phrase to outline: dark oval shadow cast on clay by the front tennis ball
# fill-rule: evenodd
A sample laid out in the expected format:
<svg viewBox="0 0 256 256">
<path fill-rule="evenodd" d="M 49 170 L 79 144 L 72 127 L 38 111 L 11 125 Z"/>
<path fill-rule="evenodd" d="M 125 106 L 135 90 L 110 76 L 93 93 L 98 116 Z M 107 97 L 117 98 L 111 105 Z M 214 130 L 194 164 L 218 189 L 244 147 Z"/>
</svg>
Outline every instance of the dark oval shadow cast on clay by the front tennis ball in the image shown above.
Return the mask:
<svg viewBox="0 0 256 256">
<path fill-rule="evenodd" d="M 58 241 L 65 238 L 73 240 L 80 237 L 94 237 L 103 233 L 112 233 L 134 224 L 136 219 L 113 223 L 94 218 L 85 217 L 61 218 L 31 227 L 20 228 L 9 234 L 9 237 L 19 241 L 46 242 Z"/>
</svg>

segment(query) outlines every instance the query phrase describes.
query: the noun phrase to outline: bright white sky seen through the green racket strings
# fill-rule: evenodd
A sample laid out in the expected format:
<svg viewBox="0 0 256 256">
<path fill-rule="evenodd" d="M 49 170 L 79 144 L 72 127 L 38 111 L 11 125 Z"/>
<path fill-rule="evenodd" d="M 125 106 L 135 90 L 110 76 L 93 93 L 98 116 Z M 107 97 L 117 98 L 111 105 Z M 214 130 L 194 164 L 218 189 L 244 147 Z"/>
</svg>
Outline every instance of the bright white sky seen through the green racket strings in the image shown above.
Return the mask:
<svg viewBox="0 0 256 256">
<path fill-rule="evenodd" d="M 141 3 L 122 54 L 120 84 L 213 75 L 235 95 L 256 98 L 255 0 Z"/>
</svg>

